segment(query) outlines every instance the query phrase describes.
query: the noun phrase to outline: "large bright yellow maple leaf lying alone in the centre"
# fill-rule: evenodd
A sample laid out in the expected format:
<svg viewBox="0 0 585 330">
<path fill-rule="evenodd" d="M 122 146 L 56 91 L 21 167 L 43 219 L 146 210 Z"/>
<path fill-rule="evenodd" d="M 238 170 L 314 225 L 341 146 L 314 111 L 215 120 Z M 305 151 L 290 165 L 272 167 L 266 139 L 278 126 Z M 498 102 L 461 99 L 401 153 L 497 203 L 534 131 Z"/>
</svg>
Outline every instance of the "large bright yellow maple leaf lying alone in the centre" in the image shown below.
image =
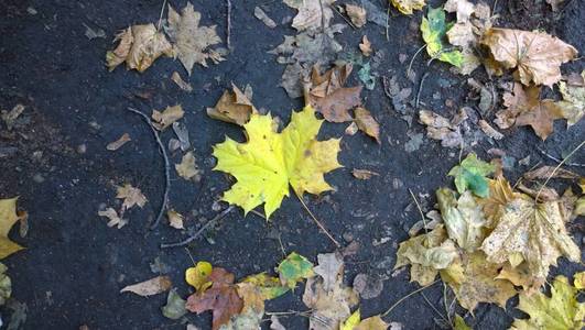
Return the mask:
<svg viewBox="0 0 585 330">
<path fill-rule="evenodd" d="M 293 111 L 291 123 L 279 133 L 270 114 L 252 113 L 243 125 L 248 142 L 226 138 L 214 146 L 214 169 L 237 179 L 223 200 L 241 207 L 245 213 L 264 204 L 269 218 L 289 196 L 289 185 L 299 196 L 331 190 L 323 175 L 342 167 L 337 162 L 340 139 L 317 141 L 322 123 L 307 106 Z"/>
</svg>

